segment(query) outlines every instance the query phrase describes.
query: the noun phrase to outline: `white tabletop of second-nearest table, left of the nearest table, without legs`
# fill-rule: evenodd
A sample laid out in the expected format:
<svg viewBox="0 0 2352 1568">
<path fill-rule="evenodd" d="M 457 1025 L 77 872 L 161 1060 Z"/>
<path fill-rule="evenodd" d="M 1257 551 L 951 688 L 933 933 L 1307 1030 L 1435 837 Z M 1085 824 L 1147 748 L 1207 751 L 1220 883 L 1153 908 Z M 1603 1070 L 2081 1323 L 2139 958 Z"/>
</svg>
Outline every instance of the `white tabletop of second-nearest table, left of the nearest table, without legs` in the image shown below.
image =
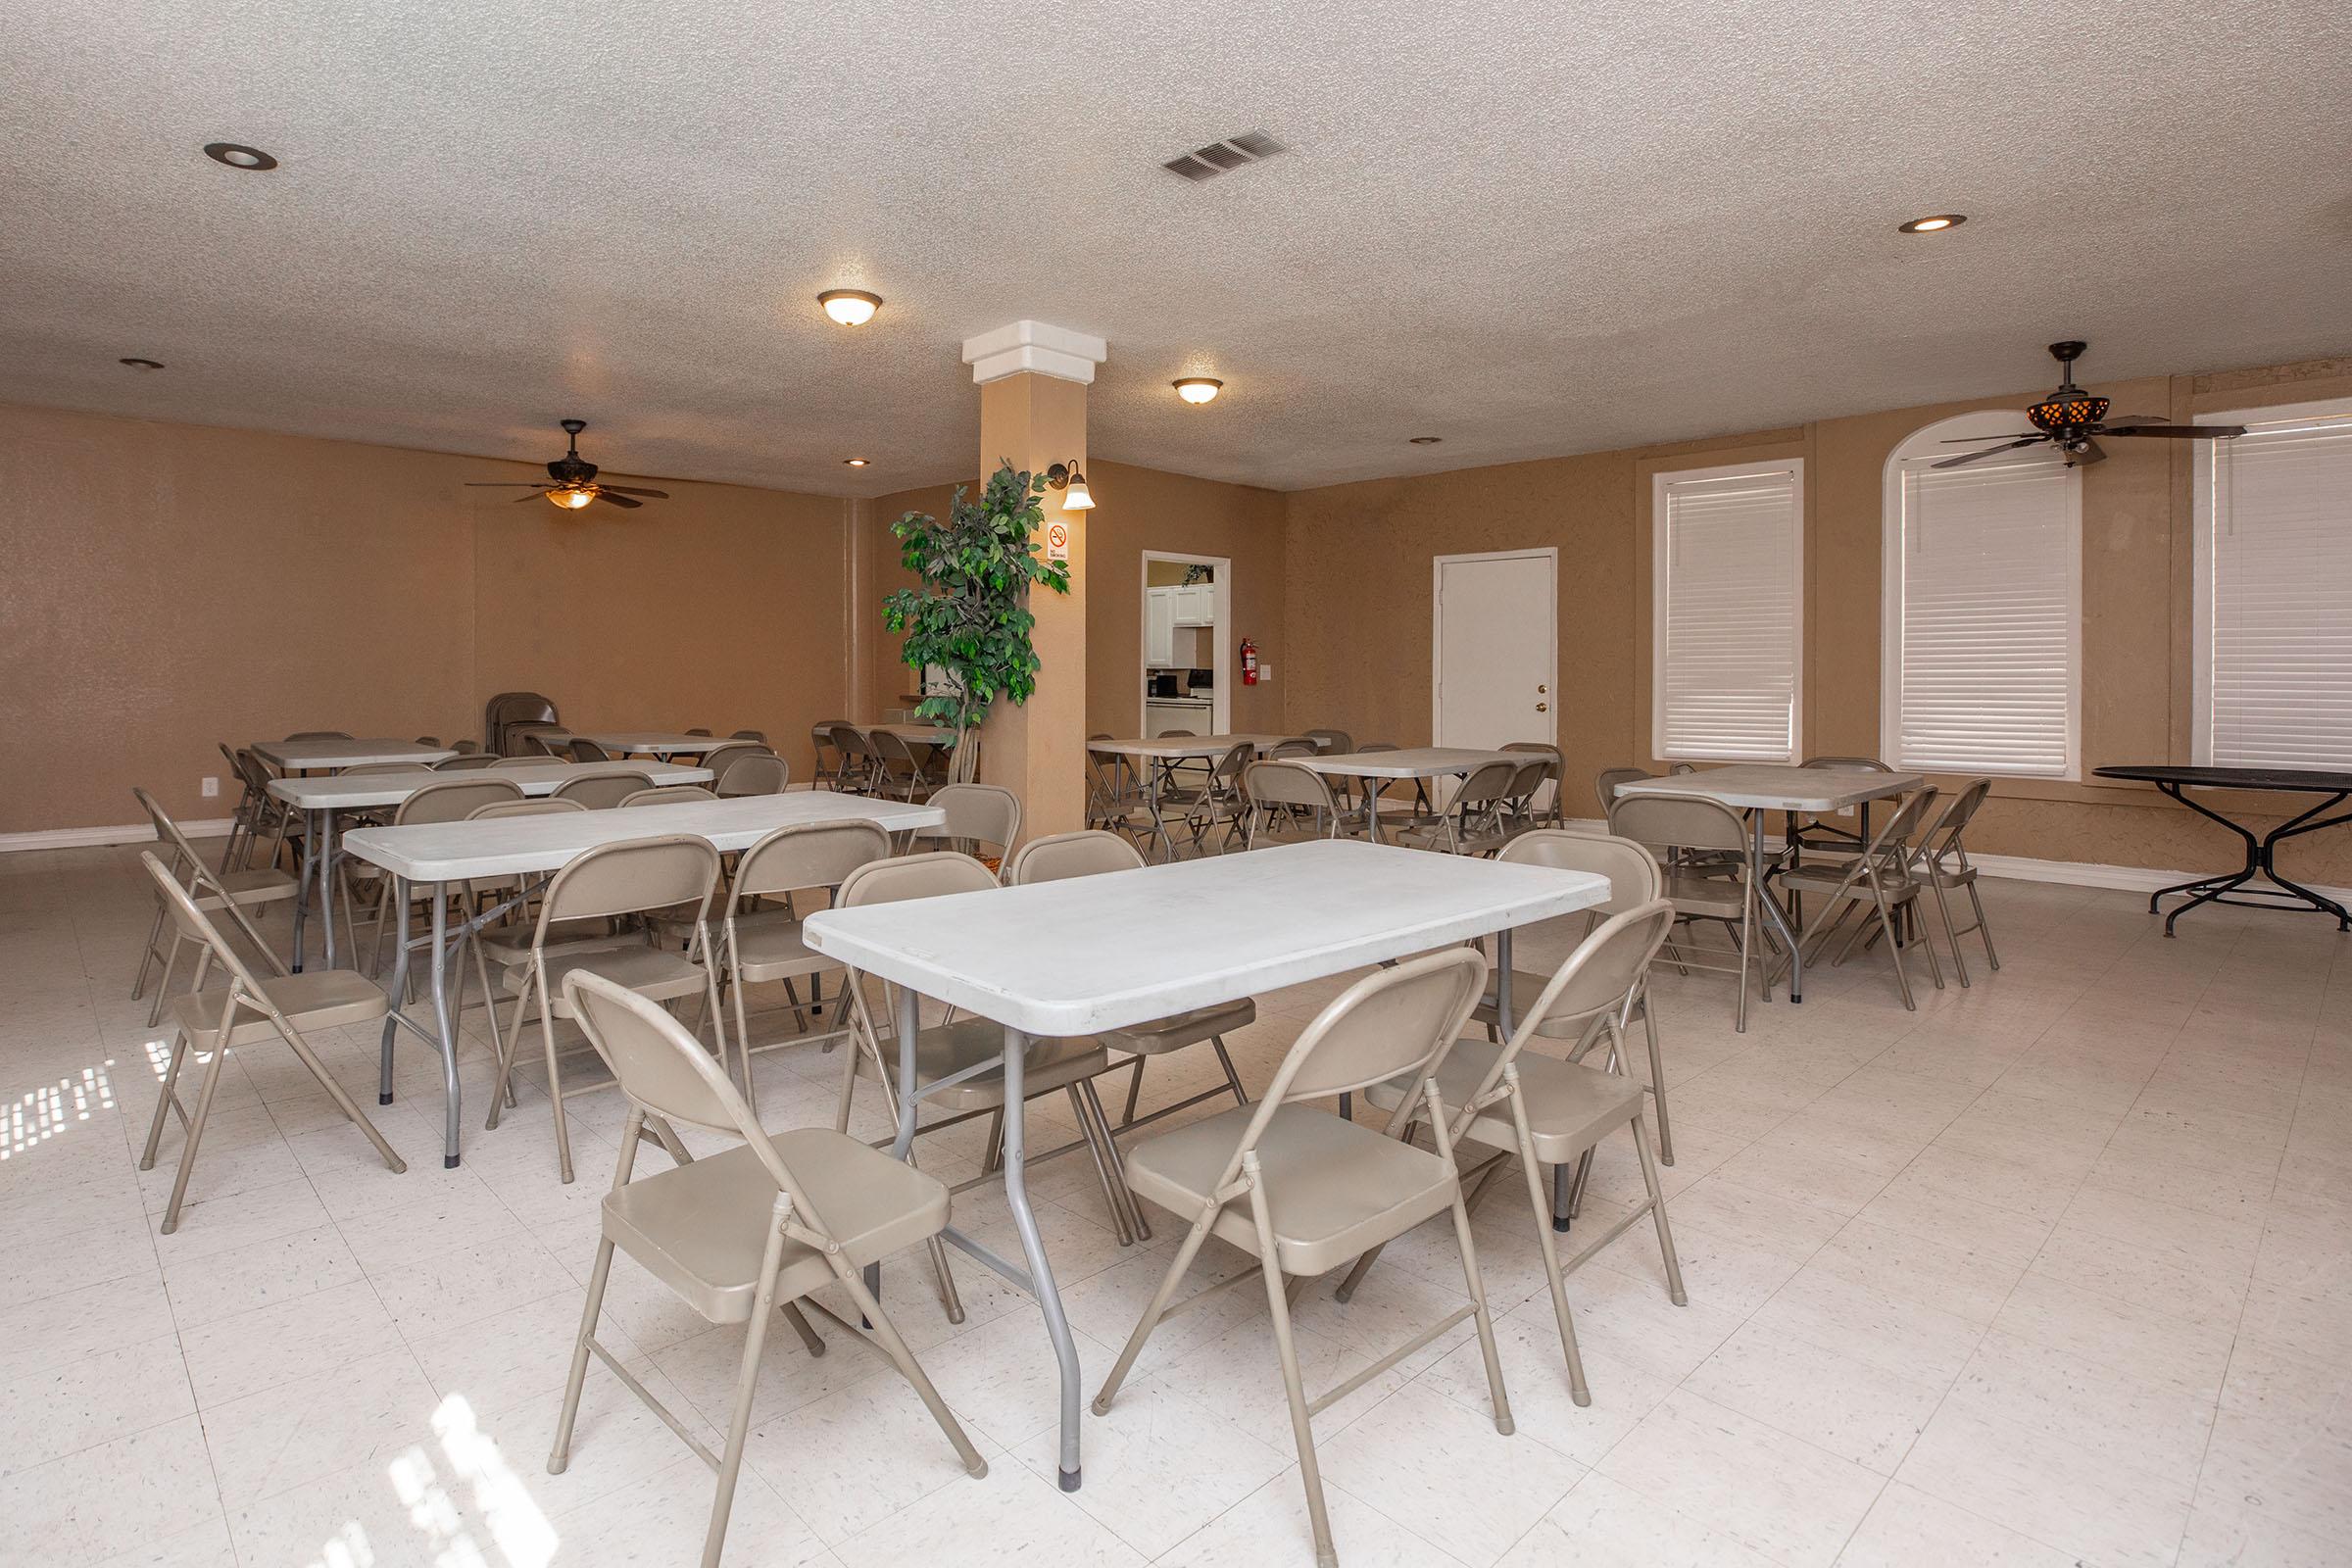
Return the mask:
<svg viewBox="0 0 2352 1568">
<path fill-rule="evenodd" d="M 343 853 L 381 865 L 409 882 L 463 882 L 513 872 L 553 872 L 597 844 L 691 832 L 724 851 L 750 849 L 790 823 L 880 823 L 889 832 L 936 827 L 948 820 L 938 806 L 910 806 L 866 795 L 795 790 L 793 795 L 741 795 L 696 799 L 677 806 L 612 806 L 607 811 L 550 811 L 480 823 L 409 823 L 407 827 L 358 827 L 343 835 Z"/>
</svg>

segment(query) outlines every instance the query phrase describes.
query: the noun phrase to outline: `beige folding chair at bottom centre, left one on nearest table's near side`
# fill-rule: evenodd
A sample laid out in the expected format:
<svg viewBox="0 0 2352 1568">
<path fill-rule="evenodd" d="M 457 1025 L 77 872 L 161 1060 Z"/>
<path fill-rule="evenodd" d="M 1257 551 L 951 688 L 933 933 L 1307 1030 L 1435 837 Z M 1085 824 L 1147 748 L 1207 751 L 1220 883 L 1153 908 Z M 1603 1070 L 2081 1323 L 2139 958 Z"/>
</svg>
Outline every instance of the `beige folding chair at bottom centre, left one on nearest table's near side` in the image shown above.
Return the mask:
<svg viewBox="0 0 2352 1568">
<path fill-rule="evenodd" d="M 1439 1091 L 1444 1058 L 1470 1018 L 1484 980 L 1486 959 L 1472 947 L 1446 947 L 1374 971 L 1341 992 L 1298 1034 L 1263 1100 L 1145 1138 L 1127 1161 L 1136 1194 L 1190 1220 L 1190 1229 L 1150 1307 L 1136 1321 L 1127 1349 L 1103 1380 L 1103 1392 L 1094 1396 L 1094 1413 L 1110 1413 L 1110 1401 L 1160 1319 L 1249 1279 L 1247 1272 L 1235 1274 L 1169 1307 L 1209 1234 L 1242 1248 L 1258 1260 L 1258 1276 L 1265 1281 L 1275 1352 L 1282 1359 L 1282 1392 L 1289 1396 L 1291 1439 L 1298 1446 L 1298 1479 L 1305 1483 L 1308 1521 L 1315 1530 L 1315 1561 L 1324 1566 L 1336 1566 L 1338 1552 L 1331 1544 L 1322 1469 L 1315 1462 L 1312 1418 L 1319 1410 L 1468 1316 L 1477 1321 L 1479 1352 L 1486 1356 L 1494 1427 L 1503 1434 L 1512 1429 L 1503 1363 L 1494 1349 L 1486 1291 L 1470 1241 L 1470 1213 L 1454 1168 L 1456 1121 Z M 1303 1105 L 1397 1077 L 1418 1088 L 1397 1107 L 1388 1133 Z M 1635 1103 L 1639 1105 L 1639 1095 Z M 1435 1154 L 1395 1135 L 1411 1119 L 1428 1121 L 1437 1140 Z M 1291 1281 L 1329 1274 L 1449 1208 L 1470 1305 L 1446 1314 L 1336 1389 L 1308 1399 L 1291 1342 Z"/>
</svg>

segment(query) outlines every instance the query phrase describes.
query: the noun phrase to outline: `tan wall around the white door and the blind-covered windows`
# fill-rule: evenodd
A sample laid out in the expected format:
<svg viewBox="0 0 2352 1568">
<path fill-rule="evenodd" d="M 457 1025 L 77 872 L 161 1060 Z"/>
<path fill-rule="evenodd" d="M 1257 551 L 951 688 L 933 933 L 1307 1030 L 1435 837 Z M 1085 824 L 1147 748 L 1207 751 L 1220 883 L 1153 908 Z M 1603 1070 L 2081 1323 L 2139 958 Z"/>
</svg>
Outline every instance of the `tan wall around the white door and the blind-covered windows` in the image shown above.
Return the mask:
<svg viewBox="0 0 2352 1568">
<path fill-rule="evenodd" d="M 1806 458 L 1804 752 L 1879 752 L 1884 465 L 1912 430 L 2020 409 L 2042 388 L 1677 447 L 1602 451 L 1287 496 L 1287 722 L 1359 741 L 1430 736 L 1435 555 L 1559 545 L 1559 745 L 1571 809 L 1649 757 L 1649 480 L 1663 468 Z M 2194 418 L 2352 395 L 2352 362 L 2105 383 L 2119 411 Z M 2190 463 L 2183 442 L 2107 442 L 2084 470 L 2084 769 L 2187 762 Z M 2352 614 L 2352 607 L 2347 607 Z M 2223 802 L 2277 813 L 2281 797 Z M 2307 804 L 2307 802 L 2303 802 Z M 2004 780 L 1971 846 L 2044 860 L 2237 865 L 2237 842 L 2138 785 Z M 2288 849 L 2291 875 L 2352 884 L 2352 832 Z"/>
</svg>

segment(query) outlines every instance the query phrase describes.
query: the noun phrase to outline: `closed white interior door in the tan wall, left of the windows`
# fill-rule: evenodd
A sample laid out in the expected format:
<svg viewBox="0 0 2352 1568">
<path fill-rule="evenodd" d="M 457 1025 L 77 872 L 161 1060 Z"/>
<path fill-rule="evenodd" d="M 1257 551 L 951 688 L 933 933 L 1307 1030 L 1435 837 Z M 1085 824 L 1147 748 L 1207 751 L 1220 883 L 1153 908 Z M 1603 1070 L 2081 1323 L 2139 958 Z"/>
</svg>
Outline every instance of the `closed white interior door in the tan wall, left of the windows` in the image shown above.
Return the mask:
<svg viewBox="0 0 2352 1568">
<path fill-rule="evenodd" d="M 1557 741 L 1557 550 L 1437 557 L 1437 745 Z"/>
</svg>

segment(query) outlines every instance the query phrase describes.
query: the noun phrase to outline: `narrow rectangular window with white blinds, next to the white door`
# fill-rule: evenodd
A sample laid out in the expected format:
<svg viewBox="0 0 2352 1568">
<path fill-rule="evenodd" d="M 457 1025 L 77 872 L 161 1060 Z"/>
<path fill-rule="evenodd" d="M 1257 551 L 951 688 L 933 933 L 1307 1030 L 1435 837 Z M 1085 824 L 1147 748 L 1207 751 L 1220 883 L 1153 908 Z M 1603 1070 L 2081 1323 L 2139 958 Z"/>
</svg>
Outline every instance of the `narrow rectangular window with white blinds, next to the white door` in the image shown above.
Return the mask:
<svg viewBox="0 0 2352 1568">
<path fill-rule="evenodd" d="M 1804 465 L 1651 482 L 1656 757 L 1790 762 L 1804 623 Z"/>
</svg>

